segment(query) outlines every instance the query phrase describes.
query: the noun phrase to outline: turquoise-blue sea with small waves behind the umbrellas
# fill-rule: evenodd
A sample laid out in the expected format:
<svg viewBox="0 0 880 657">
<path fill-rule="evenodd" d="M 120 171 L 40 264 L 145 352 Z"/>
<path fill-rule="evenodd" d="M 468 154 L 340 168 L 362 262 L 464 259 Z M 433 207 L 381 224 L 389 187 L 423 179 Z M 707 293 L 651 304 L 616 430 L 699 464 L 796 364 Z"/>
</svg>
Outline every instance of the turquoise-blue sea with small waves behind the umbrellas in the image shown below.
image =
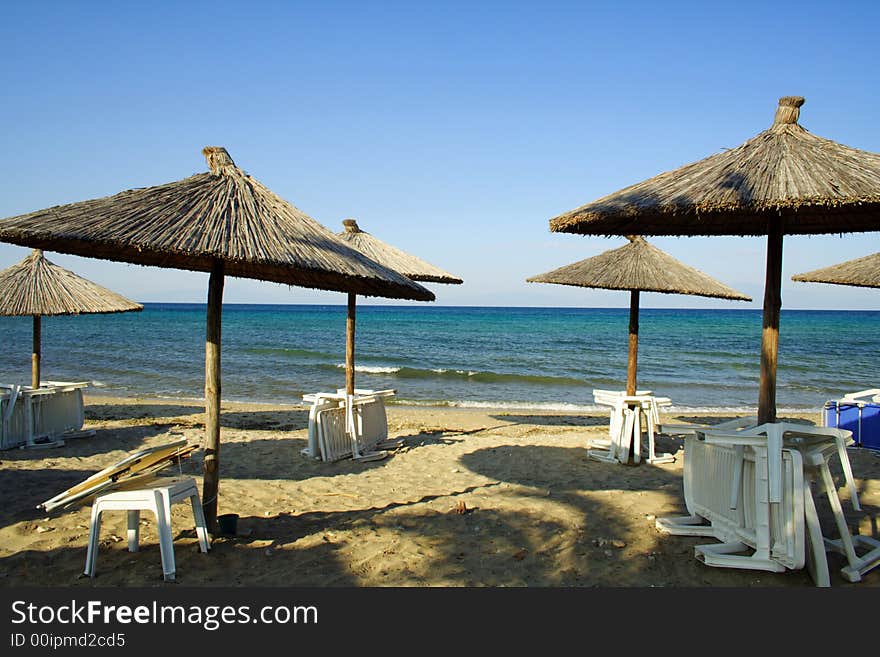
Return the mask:
<svg viewBox="0 0 880 657">
<path fill-rule="evenodd" d="M 345 307 L 223 308 L 226 400 L 301 403 L 344 386 Z M 450 406 L 593 409 L 593 388 L 626 381 L 626 308 L 359 305 L 358 387 Z M 29 383 L 32 322 L 0 317 L 0 382 Z M 43 379 L 93 392 L 199 398 L 205 306 L 43 318 Z M 757 406 L 761 311 L 646 309 L 639 387 L 678 408 Z M 783 310 L 777 405 L 819 410 L 880 387 L 880 312 Z"/>
</svg>

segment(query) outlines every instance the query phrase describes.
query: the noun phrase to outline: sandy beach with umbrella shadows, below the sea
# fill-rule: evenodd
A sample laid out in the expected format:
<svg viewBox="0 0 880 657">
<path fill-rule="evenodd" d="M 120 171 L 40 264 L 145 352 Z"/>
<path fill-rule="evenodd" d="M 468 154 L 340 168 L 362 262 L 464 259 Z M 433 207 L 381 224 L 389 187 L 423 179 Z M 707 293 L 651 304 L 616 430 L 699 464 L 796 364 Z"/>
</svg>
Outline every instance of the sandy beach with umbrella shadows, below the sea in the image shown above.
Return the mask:
<svg viewBox="0 0 880 657">
<path fill-rule="evenodd" d="M 46 514 L 37 504 L 144 447 L 179 437 L 201 445 L 203 410 L 199 400 L 88 396 L 93 437 L 0 452 L 0 586 L 813 585 L 806 570 L 708 567 L 693 548 L 711 539 L 658 532 L 655 518 L 685 512 L 681 442 L 661 438 L 658 449 L 678 457 L 668 464 L 590 460 L 587 441 L 607 432 L 605 414 L 389 406 L 401 447 L 383 460 L 324 463 L 301 454 L 305 406 L 241 403 L 222 406 L 219 497 L 219 513 L 240 516 L 238 534 L 202 554 L 189 508 L 175 505 L 177 582 L 166 583 L 154 519 L 142 516 L 141 551 L 130 553 L 125 514 L 108 513 L 97 576 L 83 577 L 89 505 Z M 201 489 L 200 456 L 179 471 Z M 880 458 L 851 449 L 850 460 L 863 506 L 852 511 L 840 489 L 851 527 L 880 537 Z M 880 586 L 880 569 L 853 584 L 842 558 L 829 554 L 829 565 L 834 587 Z"/>
</svg>

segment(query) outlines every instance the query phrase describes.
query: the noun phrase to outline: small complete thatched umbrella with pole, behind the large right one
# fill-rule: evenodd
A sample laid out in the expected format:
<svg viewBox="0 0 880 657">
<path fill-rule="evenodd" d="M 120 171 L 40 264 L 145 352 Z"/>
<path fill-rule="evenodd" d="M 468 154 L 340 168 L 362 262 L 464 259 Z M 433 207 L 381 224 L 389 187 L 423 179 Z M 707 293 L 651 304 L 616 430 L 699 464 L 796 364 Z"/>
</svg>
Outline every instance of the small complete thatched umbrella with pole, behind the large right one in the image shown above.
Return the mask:
<svg viewBox="0 0 880 657">
<path fill-rule="evenodd" d="M 629 290 L 629 358 L 626 394 L 636 394 L 639 350 L 639 292 L 692 294 L 702 297 L 751 301 L 711 276 L 679 262 L 649 244 L 644 237 L 630 236 L 629 244 L 545 274 L 527 278 L 529 283 L 555 283 L 605 290 Z"/>
</svg>

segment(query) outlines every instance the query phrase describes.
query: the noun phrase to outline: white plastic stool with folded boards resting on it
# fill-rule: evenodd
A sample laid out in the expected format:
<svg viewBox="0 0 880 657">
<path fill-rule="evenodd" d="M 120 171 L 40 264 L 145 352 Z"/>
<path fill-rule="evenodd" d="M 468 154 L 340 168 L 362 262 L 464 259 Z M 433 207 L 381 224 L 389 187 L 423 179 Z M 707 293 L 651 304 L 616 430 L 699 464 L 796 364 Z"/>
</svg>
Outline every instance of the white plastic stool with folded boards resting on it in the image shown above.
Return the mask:
<svg viewBox="0 0 880 657">
<path fill-rule="evenodd" d="M 89 529 L 89 548 L 86 552 L 85 574 L 94 577 L 98 561 L 98 535 L 101 533 L 101 514 L 104 511 L 128 511 L 128 551 L 137 552 L 140 530 L 140 512 L 152 511 L 156 516 L 159 533 L 159 552 L 162 555 L 162 574 L 165 581 L 174 580 L 174 543 L 171 536 L 171 505 L 189 500 L 192 504 L 202 552 L 210 549 L 205 514 L 199 499 L 196 482 L 190 478 L 160 477 L 142 488 L 105 493 L 92 504 L 92 521 Z"/>
</svg>

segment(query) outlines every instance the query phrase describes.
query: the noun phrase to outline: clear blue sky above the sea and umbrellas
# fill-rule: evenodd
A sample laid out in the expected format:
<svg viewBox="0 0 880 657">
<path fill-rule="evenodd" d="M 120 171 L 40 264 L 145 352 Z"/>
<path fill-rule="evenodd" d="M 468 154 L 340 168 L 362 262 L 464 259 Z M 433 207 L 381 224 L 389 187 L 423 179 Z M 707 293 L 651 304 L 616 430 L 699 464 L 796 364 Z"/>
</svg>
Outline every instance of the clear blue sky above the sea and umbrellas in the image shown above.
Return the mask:
<svg viewBox="0 0 880 657">
<path fill-rule="evenodd" d="M 551 217 L 770 125 L 880 152 L 876 2 L 5 2 L 0 217 L 179 180 L 200 151 L 325 226 L 354 217 L 461 276 L 441 305 L 626 306 L 525 283 L 622 239 Z M 760 307 L 763 238 L 649 238 Z M 877 309 L 880 290 L 794 283 L 877 233 L 785 238 L 784 308 Z M 0 244 L 0 268 L 27 249 Z M 48 253 L 139 301 L 204 302 L 207 275 Z M 231 303 L 343 303 L 230 279 Z M 380 303 L 371 299 L 368 303 Z"/>
</svg>

